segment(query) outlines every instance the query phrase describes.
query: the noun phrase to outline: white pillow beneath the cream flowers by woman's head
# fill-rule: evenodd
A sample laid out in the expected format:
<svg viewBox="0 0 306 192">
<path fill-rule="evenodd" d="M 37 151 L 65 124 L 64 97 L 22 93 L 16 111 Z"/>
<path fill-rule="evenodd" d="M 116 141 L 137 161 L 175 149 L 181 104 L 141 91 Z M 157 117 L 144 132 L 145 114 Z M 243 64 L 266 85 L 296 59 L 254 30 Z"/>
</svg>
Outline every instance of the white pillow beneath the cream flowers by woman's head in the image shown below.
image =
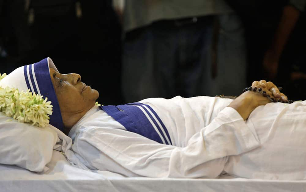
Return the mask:
<svg viewBox="0 0 306 192">
<path fill-rule="evenodd" d="M 0 112 L 0 163 L 17 165 L 34 172 L 46 171 L 57 133 L 50 128 L 19 123 Z"/>
</svg>

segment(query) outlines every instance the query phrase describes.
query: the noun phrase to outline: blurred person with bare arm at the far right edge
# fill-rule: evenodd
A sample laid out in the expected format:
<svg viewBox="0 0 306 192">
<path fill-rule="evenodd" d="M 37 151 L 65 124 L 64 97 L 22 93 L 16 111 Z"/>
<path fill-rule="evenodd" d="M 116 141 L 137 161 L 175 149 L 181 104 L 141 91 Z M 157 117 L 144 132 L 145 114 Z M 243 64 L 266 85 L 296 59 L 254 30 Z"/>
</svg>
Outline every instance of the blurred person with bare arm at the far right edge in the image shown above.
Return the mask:
<svg viewBox="0 0 306 192">
<path fill-rule="evenodd" d="M 269 49 L 274 50 L 271 55 L 276 58 L 275 62 L 263 62 L 264 66 L 267 64 L 267 71 L 274 69 L 275 81 L 283 85 L 285 92 L 296 101 L 306 99 L 305 8 L 306 0 L 289 0 L 284 6 Z"/>
</svg>

